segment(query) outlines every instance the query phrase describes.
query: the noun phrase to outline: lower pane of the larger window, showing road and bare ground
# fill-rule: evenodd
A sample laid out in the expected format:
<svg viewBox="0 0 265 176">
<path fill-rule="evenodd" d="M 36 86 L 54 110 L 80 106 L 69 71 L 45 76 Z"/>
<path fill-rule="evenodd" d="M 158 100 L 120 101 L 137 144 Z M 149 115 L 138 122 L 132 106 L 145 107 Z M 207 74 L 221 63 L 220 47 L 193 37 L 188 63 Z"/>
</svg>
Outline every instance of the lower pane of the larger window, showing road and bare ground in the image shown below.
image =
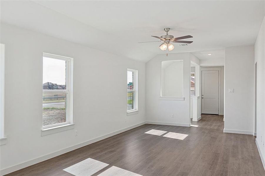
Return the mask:
<svg viewBox="0 0 265 176">
<path fill-rule="evenodd" d="M 66 122 L 66 94 L 42 94 L 42 126 Z"/>
</svg>

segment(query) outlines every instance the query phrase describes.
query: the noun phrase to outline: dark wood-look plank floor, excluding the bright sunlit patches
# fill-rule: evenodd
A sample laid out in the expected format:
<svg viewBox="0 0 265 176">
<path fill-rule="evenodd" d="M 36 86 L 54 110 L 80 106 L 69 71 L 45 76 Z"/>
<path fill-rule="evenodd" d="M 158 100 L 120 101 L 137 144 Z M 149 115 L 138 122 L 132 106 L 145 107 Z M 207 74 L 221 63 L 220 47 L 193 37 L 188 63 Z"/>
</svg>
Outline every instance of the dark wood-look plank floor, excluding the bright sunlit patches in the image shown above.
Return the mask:
<svg viewBox="0 0 265 176">
<path fill-rule="evenodd" d="M 252 135 L 223 133 L 223 116 L 202 115 L 199 127 L 145 124 L 77 150 L 8 174 L 62 175 L 93 158 L 144 176 L 265 175 Z M 151 129 L 189 134 L 183 141 L 145 134 Z M 98 175 L 97 172 L 94 175 Z"/>
</svg>

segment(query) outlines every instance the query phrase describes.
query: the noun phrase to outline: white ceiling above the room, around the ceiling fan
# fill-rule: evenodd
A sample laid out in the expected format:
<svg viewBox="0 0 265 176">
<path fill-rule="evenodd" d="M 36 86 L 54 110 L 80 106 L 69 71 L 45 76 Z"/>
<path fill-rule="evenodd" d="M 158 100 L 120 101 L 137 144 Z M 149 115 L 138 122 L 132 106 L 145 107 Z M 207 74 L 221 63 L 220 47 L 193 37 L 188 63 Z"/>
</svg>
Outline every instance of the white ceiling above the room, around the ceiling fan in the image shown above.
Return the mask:
<svg viewBox="0 0 265 176">
<path fill-rule="evenodd" d="M 1 1 L 2 22 L 143 62 L 164 52 L 137 42 L 158 41 L 165 27 L 194 36 L 171 53 L 208 59 L 200 51 L 253 45 L 264 15 L 265 1 Z"/>
</svg>

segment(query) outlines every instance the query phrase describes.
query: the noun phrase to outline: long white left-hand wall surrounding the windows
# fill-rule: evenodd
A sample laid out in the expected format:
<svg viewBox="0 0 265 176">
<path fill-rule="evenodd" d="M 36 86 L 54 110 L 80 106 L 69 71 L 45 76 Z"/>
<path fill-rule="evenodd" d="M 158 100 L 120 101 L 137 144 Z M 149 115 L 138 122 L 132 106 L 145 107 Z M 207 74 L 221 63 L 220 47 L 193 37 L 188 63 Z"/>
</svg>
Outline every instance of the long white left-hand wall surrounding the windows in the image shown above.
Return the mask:
<svg viewBox="0 0 265 176">
<path fill-rule="evenodd" d="M 5 168 L 145 122 L 145 63 L 4 23 L 1 43 L 6 49 L 8 137 L 7 144 L 1 145 L 1 174 L 13 171 Z M 75 128 L 47 136 L 41 136 L 43 52 L 74 58 Z M 127 68 L 139 70 L 139 114 L 131 116 L 126 114 Z M 28 163 L 34 162 L 39 160 Z"/>
</svg>

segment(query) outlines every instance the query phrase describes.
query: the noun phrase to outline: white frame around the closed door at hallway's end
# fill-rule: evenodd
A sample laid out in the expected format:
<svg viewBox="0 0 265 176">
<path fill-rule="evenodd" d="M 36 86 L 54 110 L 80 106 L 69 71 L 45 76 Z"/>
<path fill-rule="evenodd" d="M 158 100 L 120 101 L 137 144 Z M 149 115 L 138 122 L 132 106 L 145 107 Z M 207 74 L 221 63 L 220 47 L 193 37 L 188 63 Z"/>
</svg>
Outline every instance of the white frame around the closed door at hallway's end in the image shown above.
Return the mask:
<svg viewBox="0 0 265 176">
<path fill-rule="evenodd" d="M 200 80 L 202 80 L 201 76 L 202 76 L 202 71 L 218 71 L 218 115 L 221 115 L 221 67 L 201 67 L 201 71 L 200 71 Z M 202 86 L 202 84 L 201 84 Z M 202 88 L 201 88 L 202 91 Z M 202 99 L 201 99 L 202 101 Z M 202 108 L 202 106 L 201 106 Z M 202 112 L 202 109 L 201 109 Z"/>
</svg>

